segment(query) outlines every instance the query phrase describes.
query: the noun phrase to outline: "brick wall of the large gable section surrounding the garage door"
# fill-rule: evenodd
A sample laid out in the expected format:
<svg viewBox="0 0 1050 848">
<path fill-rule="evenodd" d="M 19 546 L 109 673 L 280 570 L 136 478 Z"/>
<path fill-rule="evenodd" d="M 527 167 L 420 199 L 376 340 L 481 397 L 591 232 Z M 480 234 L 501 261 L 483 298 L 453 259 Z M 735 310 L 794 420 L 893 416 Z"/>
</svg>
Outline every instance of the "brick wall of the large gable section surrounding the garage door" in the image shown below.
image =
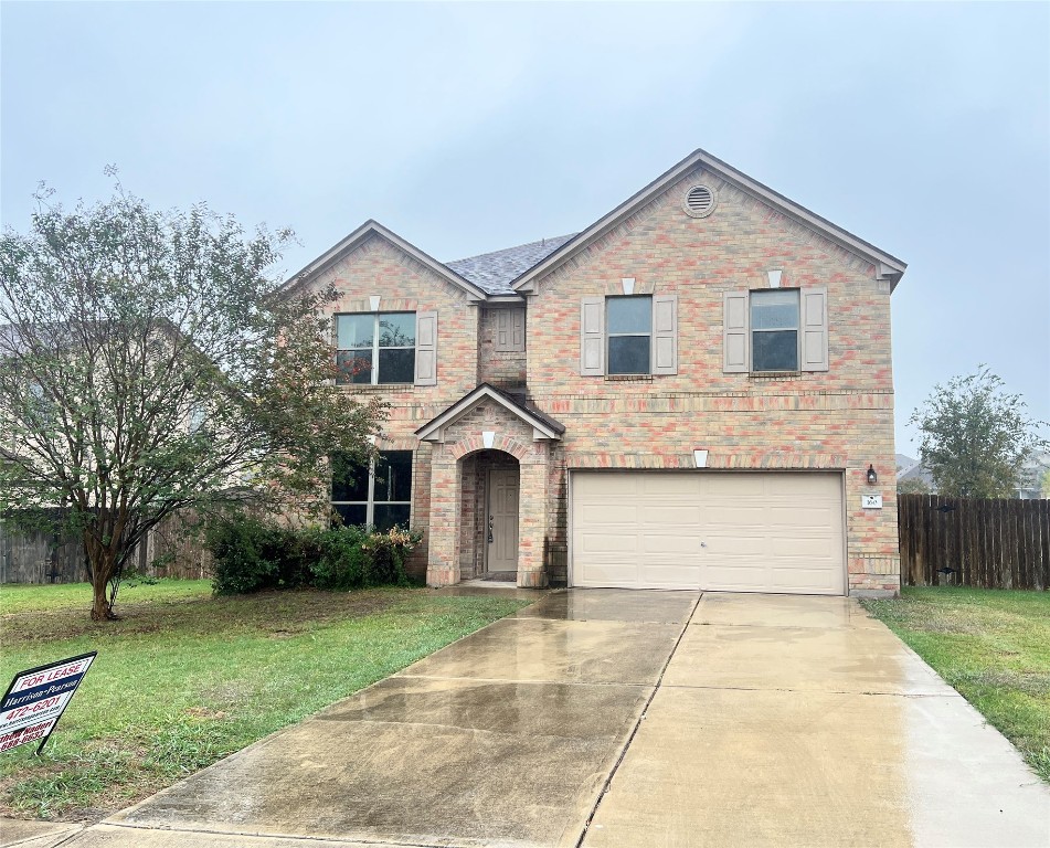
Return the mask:
<svg viewBox="0 0 1050 848">
<path fill-rule="evenodd" d="M 698 179 L 718 190 L 709 218 L 682 211 Z M 782 287 L 828 289 L 828 371 L 723 372 L 723 293 L 768 288 L 771 269 Z M 580 375 L 581 299 L 622 294 L 625 277 L 636 294 L 678 295 L 677 374 Z M 844 470 L 849 585 L 897 590 L 891 368 L 889 286 L 868 262 L 711 174 L 685 178 L 530 298 L 530 398 L 568 427 L 551 467 L 552 580 L 565 579 L 566 467 L 691 468 L 692 451 L 706 448 L 713 468 Z M 882 494 L 883 509 L 861 509 L 866 492 Z"/>
</svg>

